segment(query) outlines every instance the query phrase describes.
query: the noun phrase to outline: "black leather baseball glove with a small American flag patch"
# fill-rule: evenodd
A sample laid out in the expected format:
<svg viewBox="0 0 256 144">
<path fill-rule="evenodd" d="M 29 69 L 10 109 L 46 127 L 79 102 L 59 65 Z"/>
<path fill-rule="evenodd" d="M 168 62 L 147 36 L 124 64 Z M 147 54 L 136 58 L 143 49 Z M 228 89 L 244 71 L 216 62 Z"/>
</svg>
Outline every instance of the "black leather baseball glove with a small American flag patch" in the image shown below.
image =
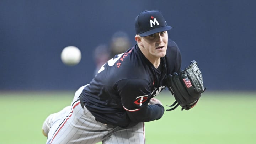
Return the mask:
<svg viewBox="0 0 256 144">
<path fill-rule="evenodd" d="M 203 78 L 196 61 L 191 61 L 190 65 L 179 74 L 169 74 L 165 78 L 166 86 L 175 97 L 175 102 L 170 105 L 171 111 L 179 105 L 181 110 L 193 108 L 206 88 L 203 86 Z"/>
</svg>

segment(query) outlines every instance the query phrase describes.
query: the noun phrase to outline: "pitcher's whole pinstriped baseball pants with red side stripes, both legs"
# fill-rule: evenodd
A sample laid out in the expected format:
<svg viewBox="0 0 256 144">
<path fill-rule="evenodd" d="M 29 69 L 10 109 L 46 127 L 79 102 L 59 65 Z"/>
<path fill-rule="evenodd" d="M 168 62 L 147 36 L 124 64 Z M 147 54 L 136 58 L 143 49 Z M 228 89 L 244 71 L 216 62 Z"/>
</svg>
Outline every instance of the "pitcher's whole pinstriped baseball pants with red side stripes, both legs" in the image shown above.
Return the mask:
<svg viewBox="0 0 256 144">
<path fill-rule="evenodd" d="M 76 91 L 68 110 L 56 114 L 47 144 L 145 144 L 144 123 L 130 128 L 109 128 L 96 121 L 86 107 L 82 108 L 78 97 L 84 87 Z"/>
</svg>

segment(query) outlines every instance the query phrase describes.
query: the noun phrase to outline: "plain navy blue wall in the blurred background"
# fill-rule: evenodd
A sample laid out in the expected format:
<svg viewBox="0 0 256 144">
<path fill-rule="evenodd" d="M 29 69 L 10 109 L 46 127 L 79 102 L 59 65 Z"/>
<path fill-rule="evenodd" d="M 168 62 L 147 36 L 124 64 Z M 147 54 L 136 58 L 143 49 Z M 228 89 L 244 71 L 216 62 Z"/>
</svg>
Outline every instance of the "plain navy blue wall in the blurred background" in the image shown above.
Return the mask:
<svg viewBox="0 0 256 144">
<path fill-rule="evenodd" d="M 160 10 L 184 68 L 196 60 L 209 90 L 255 90 L 256 1 L 0 1 L 0 90 L 75 90 L 92 79 L 93 50 L 116 31 L 134 44 L 134 18 Z M 65 66 L 66 46 L 82 52 Z"/>
</svg>

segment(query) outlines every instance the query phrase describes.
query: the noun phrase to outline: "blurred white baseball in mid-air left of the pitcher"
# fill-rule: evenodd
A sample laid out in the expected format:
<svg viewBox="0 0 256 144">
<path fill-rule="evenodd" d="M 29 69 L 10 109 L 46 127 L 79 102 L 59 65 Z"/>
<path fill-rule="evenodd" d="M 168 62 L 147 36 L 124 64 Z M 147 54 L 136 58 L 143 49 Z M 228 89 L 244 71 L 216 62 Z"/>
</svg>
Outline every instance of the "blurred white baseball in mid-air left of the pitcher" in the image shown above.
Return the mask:
<svg viewBox="0 0 256 144">
<path fill-rule="evenodd" d="M 68 46 L 62 50 L 60 58 L 65 65 L 74 66 L 81 60 L 81 51 L 75 46 Z"/>
</svg>

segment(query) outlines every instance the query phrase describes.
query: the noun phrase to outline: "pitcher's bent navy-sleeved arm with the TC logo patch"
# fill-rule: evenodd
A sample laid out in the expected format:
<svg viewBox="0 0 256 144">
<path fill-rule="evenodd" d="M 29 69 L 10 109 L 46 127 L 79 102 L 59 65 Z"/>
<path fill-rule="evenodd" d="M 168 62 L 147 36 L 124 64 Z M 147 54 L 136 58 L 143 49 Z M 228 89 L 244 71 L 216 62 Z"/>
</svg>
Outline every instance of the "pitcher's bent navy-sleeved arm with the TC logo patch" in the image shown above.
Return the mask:
<svg viewBox="0 0 256 144">
<path fill-rule="evenodd" d="M 148 80 L 129 78 L 117 83 L 124 110 L 132 122 L 148 122 L 160 119 L 164 114 L 162 105 L 148 105 L 151 86 Z"/>
</svg>

